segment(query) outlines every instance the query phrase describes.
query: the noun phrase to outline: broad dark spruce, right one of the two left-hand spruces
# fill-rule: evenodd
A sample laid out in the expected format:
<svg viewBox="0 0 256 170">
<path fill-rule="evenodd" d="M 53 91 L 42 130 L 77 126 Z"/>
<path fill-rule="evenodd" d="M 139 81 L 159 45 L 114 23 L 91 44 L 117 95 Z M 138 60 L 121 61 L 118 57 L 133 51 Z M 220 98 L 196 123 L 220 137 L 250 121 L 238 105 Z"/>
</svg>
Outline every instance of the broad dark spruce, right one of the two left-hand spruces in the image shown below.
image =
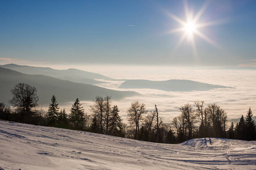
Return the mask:
<svg viewBox="0 0 256 170">
<path fill-rule="evenodd" d="M 81 107 L 79 99 L 77 98 L 75 103 L 72 105 L 71 113 L 69 114 L 69 121 L 73 128 L 82 130 L 84 128 L 85 116 L 84 109 Z"/>
</svg>

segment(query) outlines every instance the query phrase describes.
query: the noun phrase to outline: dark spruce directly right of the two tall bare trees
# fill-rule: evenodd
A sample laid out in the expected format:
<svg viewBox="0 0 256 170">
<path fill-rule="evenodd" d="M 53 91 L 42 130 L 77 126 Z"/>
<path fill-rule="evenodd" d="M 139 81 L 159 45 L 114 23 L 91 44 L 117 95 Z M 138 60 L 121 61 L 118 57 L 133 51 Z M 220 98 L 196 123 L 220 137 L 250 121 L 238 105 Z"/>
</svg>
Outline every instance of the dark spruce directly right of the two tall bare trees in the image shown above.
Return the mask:
<svg viewBox="0 0 256 170">
<path fill-rule="evenodd" d="M 114 105 L 112 111 L 109 115 L 109 130 L 110 134 L 114 136 L 121 136 L 122 134 L 122 119 L 121 116 L 118 115 L 119 110 L 117 105 Z"/>
</svg>

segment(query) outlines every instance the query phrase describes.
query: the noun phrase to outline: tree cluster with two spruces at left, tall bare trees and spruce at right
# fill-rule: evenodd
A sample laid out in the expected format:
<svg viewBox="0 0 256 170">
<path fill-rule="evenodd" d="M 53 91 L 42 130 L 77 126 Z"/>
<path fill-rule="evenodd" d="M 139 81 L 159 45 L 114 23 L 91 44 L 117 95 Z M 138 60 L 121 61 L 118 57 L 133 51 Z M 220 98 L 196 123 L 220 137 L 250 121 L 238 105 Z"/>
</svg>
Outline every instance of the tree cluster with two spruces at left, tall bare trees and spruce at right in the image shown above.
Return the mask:
<svg viewBox="0 0 256 170">
<path fill-rule="evenodd" d="M 46 114 L 47 126 L 86 130 L 93 133 L 110 134 L 124 137 L 123 125 L 117 105 L 111 106 L 111 97 L 97 96 L 91 106 L 92 115 L 84 112 L 80 100 L 76 99 L 68 115 L 65 109 L 60 110 L 56 97 L 53 95 Z"/>
</svg>

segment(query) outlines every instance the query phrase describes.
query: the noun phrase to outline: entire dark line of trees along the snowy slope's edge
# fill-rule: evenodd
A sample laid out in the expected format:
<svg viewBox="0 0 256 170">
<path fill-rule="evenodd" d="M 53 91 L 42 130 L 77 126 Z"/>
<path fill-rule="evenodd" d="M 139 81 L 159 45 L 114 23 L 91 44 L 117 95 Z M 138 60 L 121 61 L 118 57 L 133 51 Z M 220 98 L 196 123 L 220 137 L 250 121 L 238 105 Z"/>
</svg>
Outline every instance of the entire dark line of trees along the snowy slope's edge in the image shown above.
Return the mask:
<svg viewBox="0 0 256 170">
<path fill-rule="evenodd" d="M 179 108 L 179 116 L 164 123 L 156 105 L 153 111 L 147 111 L 145 104 L 135 101 L 127 109 L 129 123 L 126 124 L 119 116 L 118 106 L 112 105 L 111 96 L 96 96 L 90 106 L 92 114 L 85 113 L 80 100 L 76 99 L 70 114 L 67 114 L 64 108 L 59 108 L 55 95 L 47 112 L 36 109 L 39 101 L 36 93 L 35 87 L 16 84 L 11 90 L 13 98 L 10 100 L 14 109 L 0 103 L 0 119 L 159 143 L 180 143 L 204 137 L 256 140 L 256 126 L 250 108 L 246 118 L 242 116 L 236 126 L 232 122 L 228 128 L 227 113 L 216 104 L 205 105 L 204 101 L 185 104 Z"/>
</svg>

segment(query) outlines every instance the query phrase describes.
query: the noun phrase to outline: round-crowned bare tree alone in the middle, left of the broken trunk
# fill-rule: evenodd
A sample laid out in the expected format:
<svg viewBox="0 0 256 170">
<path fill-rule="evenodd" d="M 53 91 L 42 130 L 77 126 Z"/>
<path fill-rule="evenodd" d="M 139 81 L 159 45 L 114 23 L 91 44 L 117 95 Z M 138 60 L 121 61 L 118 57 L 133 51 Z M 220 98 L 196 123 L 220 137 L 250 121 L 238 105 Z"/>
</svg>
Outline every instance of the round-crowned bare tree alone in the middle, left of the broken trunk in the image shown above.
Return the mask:
<svg viewBox="0 0 256 170">
<path fill-rule="evenodd" d="M 142 114 L 147 113 L 145 105 L 139 104 L 139 101 L 131 103 L 131 107 L 127 110 L 127 118 L 131 125 L 135 125 L 135 139 L 139 134 L 139 123 L 142 121 Z"/>
</svg>

